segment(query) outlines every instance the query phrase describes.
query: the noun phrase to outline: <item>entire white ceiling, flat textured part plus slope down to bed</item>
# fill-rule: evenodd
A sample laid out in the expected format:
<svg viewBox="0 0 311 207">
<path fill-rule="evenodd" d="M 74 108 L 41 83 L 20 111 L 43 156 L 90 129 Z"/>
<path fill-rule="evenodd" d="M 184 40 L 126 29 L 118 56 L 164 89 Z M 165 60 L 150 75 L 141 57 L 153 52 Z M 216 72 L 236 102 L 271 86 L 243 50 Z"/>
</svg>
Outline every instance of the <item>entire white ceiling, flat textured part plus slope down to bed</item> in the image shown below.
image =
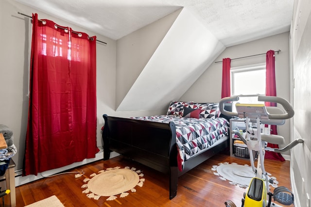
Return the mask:
<svg viewBox="0 0 311 207">
<path fill-rule="evenodd" d="M 180 98 L 226 47 L 288 32 L 294 3 L 294 0 L 16 1 L 114 40 L 183 8 L 116 111 L 164 109 L 171 100 Z"/>
</svg>

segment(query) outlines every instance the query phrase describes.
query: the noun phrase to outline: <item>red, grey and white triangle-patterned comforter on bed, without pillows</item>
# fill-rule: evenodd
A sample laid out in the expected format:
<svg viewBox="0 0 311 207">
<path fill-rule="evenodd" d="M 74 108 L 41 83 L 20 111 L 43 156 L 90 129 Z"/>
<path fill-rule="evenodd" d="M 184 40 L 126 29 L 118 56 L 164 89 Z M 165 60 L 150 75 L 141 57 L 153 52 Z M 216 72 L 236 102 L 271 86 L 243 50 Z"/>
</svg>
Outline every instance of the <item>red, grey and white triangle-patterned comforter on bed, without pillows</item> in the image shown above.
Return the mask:
<svg viewBox="0 0 311 207">
<path fill-rule="evenodd" d="M 228 135 L 229 122 L 225 118 L 185 118 L 178 115 L 131 117 L 132 119 L 169 123 L 176 126 L 178 169 L 184 169 L 184 162 L 205 151 L 220 138 Z"/>
</svg>

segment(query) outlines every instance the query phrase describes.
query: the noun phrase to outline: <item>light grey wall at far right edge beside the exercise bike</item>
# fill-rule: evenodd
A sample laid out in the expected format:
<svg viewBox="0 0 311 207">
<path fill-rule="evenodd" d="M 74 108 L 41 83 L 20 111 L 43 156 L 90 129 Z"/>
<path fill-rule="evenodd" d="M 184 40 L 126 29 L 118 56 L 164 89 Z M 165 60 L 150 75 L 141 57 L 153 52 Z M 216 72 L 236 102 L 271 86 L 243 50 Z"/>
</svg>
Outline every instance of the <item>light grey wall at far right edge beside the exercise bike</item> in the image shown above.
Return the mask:
<svg viewBox="0 0 311 207">
<path fill-rule="evenodd" d="M 307 206 L 307 193 L 311 198 L 311 1 L 295 0 L 291 27 L 291 63 L 294 88 L 294 136 L 303 144 L 292 150 L 292 183 L 296 201 Z M 304 181 L 303 181 L 304 180 Z M 310 202 L 310 201 L 309 201 Z M 298 206 L 298 205 L 297 205 Z M 299 206 L 298 206 L 299 207 Z"/>
</svg>

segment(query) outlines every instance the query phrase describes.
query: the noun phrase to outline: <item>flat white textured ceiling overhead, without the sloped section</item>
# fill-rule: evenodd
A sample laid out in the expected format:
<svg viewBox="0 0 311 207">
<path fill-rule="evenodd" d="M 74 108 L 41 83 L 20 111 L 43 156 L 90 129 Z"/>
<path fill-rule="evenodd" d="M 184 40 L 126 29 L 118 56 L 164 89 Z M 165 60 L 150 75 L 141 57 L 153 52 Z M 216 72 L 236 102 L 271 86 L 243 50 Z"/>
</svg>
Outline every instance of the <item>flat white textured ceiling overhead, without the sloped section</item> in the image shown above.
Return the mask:
<svg viewBox="0 0 311 207">
<path fill-rule="evenodd" d="M 16 1 L 114 40 L 186 7 L 226 47 L 289 31 L 294 3 L 294 0 Z"/>
</svg>

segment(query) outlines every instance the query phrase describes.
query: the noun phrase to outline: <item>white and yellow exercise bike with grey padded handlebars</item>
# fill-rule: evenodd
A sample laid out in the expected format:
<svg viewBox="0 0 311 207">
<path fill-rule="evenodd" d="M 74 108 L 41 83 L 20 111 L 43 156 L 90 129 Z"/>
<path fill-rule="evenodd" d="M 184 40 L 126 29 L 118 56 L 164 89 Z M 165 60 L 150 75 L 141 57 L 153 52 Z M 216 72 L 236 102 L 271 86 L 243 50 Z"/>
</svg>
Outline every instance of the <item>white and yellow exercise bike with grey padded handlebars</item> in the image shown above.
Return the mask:
<svg viewBox="0 0 311 207">
<path fill-rule="evenodd" d="M 289 143 L 282 149 L 267 147 L 266 143 L 284 144 L 284 138 L 274 134 L 264 134 L 261 131 L 260 124 L 265 125 L 283 125 L 285 119 L 290 119 L 294 116 L 294 110 L 291 104 L 281 97 L 276 96 L 258 96 L 258 101 L 263 102 L 275 102 L 284 108 L 282 110 L 278 107 L 266 107 L 264 104 L 242 104 L 236 103 L 236 111 L 226 111 L 224 104 L 226 102 L 238 101 L 239 96 L 225 97 L 219 102 L 220 111 L 226 116 L 239 117 L 244 120 L 245 123 L 245 135 L 243 136 L 240 131 L 233 130 L 231 133 L 238 135 L 243 143 L 247 145 L 249 150 L 249 157 L 251 167 L 255 173 L 250 181 L 249 187 L 244 192 L 242 198 L 242 207 L 280 207 L 274 201 L 283 205 L 292 205 L 294 203 L 294 194 L 286 187 L 277 187 L 274 192 L 270 192 L 269 183 L 273 183 L 268 173 L 264 168 L 264 154 L 265 151 L 273 152 L 285 152 L 290 150 L 298 143 L 303 143 L 302 139 L 296 139 Z M 257 155 L 257 167 L 255 167 L 254 160 Z M 236 207 L 236 205 L 230 201 L 225 201 L 226 207 Z"/>
</svg>

